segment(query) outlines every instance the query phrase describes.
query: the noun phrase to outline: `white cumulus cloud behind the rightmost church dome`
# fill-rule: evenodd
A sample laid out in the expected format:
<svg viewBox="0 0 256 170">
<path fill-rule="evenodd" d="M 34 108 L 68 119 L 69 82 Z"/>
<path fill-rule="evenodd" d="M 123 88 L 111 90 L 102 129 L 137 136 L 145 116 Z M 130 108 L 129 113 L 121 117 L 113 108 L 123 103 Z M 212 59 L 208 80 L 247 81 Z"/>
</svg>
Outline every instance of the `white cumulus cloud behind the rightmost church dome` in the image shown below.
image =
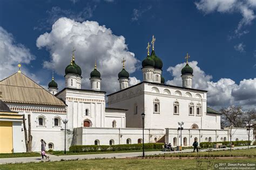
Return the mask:
<svg viewBox="0 0 256 170">
<path fill-rule="evenodd" d="M 229 105 L 241 105 L 243 108 L 256 107 L 256 78 L 244 79 L 236 84 L 231 79 L 221 78 L 213 82 L 212 76 L 207 75 L 198 67 L 197 61 L 192 61 L 189 65 L 193 68 L 192 88 L 207 90 L 207 105 L 215 109 L 227 107 Z M 174 67 L 169 67 L 168 72 L 174 77 L 166 84 L 182 86 L 181 69 L 185 63 L 180 63 Z"/>
</svg>

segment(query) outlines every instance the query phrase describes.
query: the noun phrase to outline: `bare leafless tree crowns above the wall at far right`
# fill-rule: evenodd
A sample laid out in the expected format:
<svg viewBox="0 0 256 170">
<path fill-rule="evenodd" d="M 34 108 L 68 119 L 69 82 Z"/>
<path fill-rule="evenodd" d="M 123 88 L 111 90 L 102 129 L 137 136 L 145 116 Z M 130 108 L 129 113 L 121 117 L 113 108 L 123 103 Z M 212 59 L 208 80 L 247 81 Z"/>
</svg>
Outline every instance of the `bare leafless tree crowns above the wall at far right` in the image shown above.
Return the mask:
<svg viewBox="0 0 256 170">
<path fill-rule="evenodd" d="M 236 128 L 246 128 L 246 124 L 256 124 L 256 111 L 250 109 L 242 111 L 241 106 L 230 106 L 228 108 L 220 109 L 221 114 L 221 127 L 233 125 Z"/>
</svg>

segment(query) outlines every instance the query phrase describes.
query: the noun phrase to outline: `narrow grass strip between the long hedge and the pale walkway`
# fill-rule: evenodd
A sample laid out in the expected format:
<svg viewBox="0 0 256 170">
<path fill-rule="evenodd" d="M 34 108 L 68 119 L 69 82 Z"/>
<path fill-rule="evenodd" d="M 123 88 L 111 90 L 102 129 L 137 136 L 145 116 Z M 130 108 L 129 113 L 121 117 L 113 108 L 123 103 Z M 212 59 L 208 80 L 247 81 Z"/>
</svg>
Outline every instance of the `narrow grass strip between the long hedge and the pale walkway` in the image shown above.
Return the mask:
<svg viewBox="0 0 256 170">
<path fill-rule="evenodd" d="M 159 149 L 151 149 L 151 150 L 145 150 L 145 152 L 150 151 L 161 151 Z M 53 155 L 74 155 L 74 154 L 104 154 L 104 153 L 126 153 L 126 152 L 142 152 L 142 150 L 129 150 L 129 151 L 97 151 L 97 152 L 69 152 L 67 151 L 66 154 L 64 154 L 64 151 L 53 151 L 50 154 Z"/>
</svg>

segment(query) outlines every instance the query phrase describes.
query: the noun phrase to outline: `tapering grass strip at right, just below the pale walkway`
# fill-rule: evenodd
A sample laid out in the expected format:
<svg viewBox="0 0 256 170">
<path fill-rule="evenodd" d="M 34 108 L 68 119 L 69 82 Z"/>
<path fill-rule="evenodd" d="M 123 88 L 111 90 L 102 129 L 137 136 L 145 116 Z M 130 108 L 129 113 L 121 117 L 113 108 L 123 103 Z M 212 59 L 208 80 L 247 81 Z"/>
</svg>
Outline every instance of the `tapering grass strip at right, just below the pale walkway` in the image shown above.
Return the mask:
<svg viewBox="0 0 256 170">
<path fill-rule="evenodd" d="M 208 152 L 200 152 L 201 157 L 206 157 Z M 227 150 L 227 151 L 212 151 L 212 157 L 256 157 L 256 148 Z M 197 152 L 192 153 L 171 153 L 147 155 L 146 157 L 197 157 Z"/>
</svg>

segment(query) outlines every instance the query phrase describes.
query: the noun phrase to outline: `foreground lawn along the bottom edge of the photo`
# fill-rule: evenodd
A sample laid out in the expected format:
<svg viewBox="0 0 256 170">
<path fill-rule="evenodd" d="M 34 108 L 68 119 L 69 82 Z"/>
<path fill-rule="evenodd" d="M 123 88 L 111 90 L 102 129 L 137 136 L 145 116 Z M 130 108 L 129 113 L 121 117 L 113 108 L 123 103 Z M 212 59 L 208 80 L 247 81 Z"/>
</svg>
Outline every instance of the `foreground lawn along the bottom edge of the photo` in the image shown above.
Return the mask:
<svg viewBox="0 0 256 170">
<path fill-rule="evenodd" d="M 219 163 L 255 163 L 256 158 L 214 159 Z M 207 169 L 206 162 L 201 168 Z M 213 167 L 212 167 L 213 168 Z M 0 165 L 0 169 L 198 169 L 196 159 L 92 159 Z"/>
</svg>

